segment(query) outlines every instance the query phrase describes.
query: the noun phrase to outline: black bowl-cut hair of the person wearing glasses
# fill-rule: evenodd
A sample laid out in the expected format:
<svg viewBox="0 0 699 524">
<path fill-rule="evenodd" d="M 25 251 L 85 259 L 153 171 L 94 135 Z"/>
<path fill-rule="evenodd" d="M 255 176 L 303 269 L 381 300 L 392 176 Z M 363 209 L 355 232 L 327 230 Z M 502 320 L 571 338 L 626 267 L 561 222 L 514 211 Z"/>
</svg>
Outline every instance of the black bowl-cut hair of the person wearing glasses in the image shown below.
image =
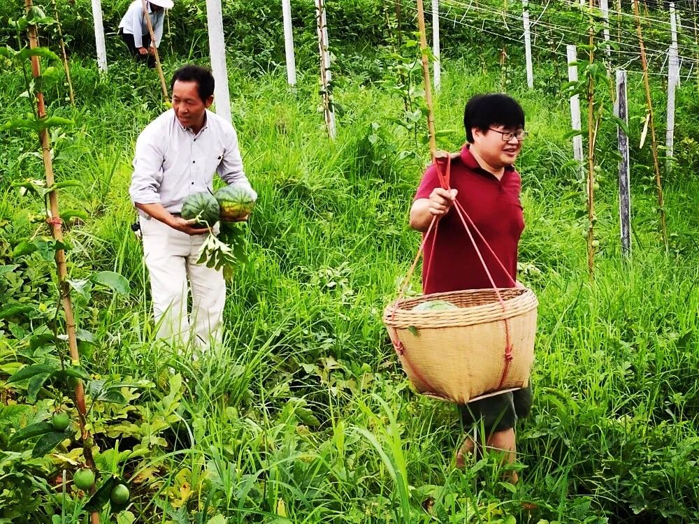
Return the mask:
<svg viewBox="0 0 699 524">
<path fill-rule="evenodd" d="M 466 140 L 473 144 L 474 127 L 481 131 L 493 125 L 505 129 L 524 129 L 524 109 L 511 96 L 500 93 L 477 94 L 473 96 L 463 110 L 463 126 L 466 128 Z"/>
</svg>

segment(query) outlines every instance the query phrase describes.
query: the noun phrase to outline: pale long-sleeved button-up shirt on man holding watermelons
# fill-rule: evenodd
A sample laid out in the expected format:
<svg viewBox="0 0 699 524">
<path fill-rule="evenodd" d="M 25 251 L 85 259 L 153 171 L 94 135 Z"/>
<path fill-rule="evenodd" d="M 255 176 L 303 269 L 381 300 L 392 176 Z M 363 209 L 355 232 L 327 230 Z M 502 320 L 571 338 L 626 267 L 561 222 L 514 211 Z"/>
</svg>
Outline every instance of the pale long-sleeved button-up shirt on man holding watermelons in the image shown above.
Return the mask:
<svg viewBox="0 0 699 524">
<path fill-rule="evenodd" d="M 179 213 L 189 194 L 213 191 L 214 173 L 227 184 L 250 187 L 236 130 L 226 119 L 206 110 L 204 126 L 194 135 L 182 127 L 175 110 L 168 110 L 136 140 L 131 202 L 160 203 L 169 212 Z"/>
</svg>

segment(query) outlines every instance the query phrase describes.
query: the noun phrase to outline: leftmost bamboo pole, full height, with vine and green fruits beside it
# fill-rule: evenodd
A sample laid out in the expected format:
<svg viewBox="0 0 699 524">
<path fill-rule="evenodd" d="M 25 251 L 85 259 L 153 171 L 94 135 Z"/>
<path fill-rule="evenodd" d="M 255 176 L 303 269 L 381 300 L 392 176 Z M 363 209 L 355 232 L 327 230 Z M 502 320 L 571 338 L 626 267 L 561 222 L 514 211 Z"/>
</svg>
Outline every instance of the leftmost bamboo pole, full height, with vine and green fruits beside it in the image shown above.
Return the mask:
<svg viewBox="0 0 699 524">
<path fill-rule="evenodd" d="M 31 12 L 31 0 L 24 0 L 24 8 L 27 13 Z M 38 31 L 36 25 L 30 24 L 27 30 L 29 34 L 29 48 L 35 49 L 38 47 Z M 36 79 L 41 76 L 41 64 L 39 57 L 31 57 L 31 75 Z M 36 93 L 36 116 L 38 118 L 46 117 L 46 106 L 43 99 L 43 93 Z M 46 175 L 46 187 L 53 187 L 55 177 L 53 175 L 53 163 L 51 160 L 51 140 L 48 134 L 48 129 L 39 131 L 39 140 L 41 142 L 41 152 L 44 163 L 44 171 Z M 59 214 L 58 194 L 55 190 L 48 194 L 50 218 L 47 220 L 51 226 L 53 238 L 57 242 L 63 242 L 63 221 Z M 68 337 L 68 347 L 73 365 L 80 364 L 80 354 L 78 353 L 78 337 L 75 334 L 75 316 L 73 315 L 73 303 L 71 303 L 71 291 L 68 283 L 68 269 L 66 267 L 66 252 L 64 249 L 57 249 L 55 254 L 56 268 L 58 272 L 58 288 L 61 303 L 63 305 L 64 314 L 66 315 L 66 335 Z M 85 463 L 92 470 L 95 470 L 94 458 L 92 457 L 92 438 L 86 427 L 87 409 L 85 407 L 85 388 L 82 385 L 82 380 L 78 379 L 78 384 L 75 385 L 75 407 L 78 408 L 78 424 L 80 425 L 80 437 L 82 439 L 82 453 L 85 456 Z M 94 489 L 94 487 L 93 487 Z M 92 524 L 99 524 L 99 512 L 93 511 L 90 514 Z"/>
</svg>

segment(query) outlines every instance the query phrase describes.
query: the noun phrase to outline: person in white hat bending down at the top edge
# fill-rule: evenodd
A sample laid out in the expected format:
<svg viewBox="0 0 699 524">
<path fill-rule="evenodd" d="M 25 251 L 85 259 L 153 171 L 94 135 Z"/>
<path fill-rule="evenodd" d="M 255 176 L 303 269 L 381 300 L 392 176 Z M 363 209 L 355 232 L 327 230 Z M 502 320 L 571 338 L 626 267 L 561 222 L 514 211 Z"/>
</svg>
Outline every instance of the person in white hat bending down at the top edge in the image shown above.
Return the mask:
<svg viewBox="0 0 699 524">
<path fill-rule="evenodd" d="M 119 34 L 126 43 L 129 52 L 137 61 L 146 61 L 148 67 L 155 67 L 155 48 L 160 46 L 163 38 L 165 10 L 173 6 L 172 0 L 150 0 L 145 3 L 150 23 L 153 26 L 155 41 L 150 41 L 148 24 L 143 13 L 143 0 L 134 0 L 127 13 L 119 22 Z"/>
</svg>

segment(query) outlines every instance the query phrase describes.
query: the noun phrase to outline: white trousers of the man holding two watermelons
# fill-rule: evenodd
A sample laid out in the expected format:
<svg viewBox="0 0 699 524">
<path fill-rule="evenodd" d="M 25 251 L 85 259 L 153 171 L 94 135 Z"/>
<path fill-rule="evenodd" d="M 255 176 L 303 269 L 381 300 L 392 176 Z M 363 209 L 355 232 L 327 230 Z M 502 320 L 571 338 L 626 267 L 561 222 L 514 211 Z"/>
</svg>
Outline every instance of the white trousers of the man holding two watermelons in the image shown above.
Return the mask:
<svg viewBox="0 0 699 524">
<path fill-rule="evenodd" d="M 221 271 L 198 264 L 206 235 L 187 235 L 153 218 L 140 219 L 158 337 L 206 348 L 222 335 L 226 282 Z M 187 314 L 189 285 L 192 313 Z M 193 332 L 190 329 L 193 328 Z"/>
</svg>

